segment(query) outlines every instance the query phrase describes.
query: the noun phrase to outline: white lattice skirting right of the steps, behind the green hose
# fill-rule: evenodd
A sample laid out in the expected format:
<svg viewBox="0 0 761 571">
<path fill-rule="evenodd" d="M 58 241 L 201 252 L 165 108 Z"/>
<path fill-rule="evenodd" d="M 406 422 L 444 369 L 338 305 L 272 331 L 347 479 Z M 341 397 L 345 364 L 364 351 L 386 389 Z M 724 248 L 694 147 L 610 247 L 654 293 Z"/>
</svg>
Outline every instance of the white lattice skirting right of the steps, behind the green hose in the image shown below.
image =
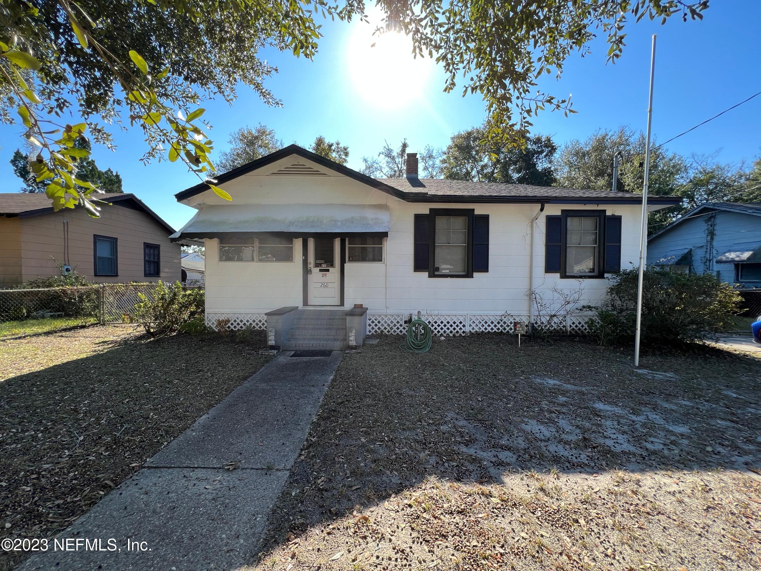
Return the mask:
<svg viewBox="0 0 761 571">
<path fill-rule="evenodd" d="M 417 316 L 417 311 L 405 311 L 403 313 L 368 313 L 368 335 L 374 333 L 387 333 L 389 335 L 403 335 L 406 333 L 404 321 Z M 587 321 L 590 314 L 575 314 L 558 316 L 552 319 L 534 317 L 537 326 L 557 333 L 571 335 L 587 335 L 589 327 Z M 442 314 L 434 311 L 422 312 L 421 318 L 428 325 L 434 335 L 452 337 L 455 335 L 468 335 L 469 333 L 511 333 L 516 321 L 528 324 L 528 315 L 512 314 Z"/>
</svg>

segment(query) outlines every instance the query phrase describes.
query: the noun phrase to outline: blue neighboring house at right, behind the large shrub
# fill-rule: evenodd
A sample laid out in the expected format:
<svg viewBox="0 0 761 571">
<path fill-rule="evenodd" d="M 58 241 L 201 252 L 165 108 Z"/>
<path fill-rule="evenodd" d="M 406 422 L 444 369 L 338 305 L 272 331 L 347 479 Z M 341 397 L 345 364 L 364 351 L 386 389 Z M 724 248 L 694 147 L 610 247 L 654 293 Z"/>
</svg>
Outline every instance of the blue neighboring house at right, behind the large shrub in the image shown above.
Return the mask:
<svg viewBox="0 0 761 571">
<path fill-rule="evenodd" d="M 705 203 L 648 238 L 648 265 L 761 288 L 761 203 Z"/>
</svg>

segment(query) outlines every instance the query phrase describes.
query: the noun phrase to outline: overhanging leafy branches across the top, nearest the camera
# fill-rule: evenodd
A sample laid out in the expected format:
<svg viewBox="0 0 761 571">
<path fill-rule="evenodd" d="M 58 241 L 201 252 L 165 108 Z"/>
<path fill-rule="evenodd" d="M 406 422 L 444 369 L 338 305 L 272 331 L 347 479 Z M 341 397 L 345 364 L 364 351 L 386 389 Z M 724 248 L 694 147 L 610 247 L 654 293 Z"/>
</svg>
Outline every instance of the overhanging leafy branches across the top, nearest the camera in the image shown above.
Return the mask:
<svg viewBox="0 0 761 571">
<path fill-rule="evenodd" d="M 380 31 L 406 33 L 415 56 L 435 58 L 447 75 L 445 91 L 465 78 L 463 94 L 483 97 L 490 140 L 520 142 L 540 110 L 573 112 L 567 97 L 537 85 L 545 75 L 560 75 L 571 53 L 587 53 L 596 30 L 607 34 L 607 57 L 614 61 L 622 53 L 628 18 L 702 19 L 708 0 L 378 5 L 386 14 Z M 230 199 L 206 178 L 216 171 L 214 145 L 199 103 L 208 97 L 233 100 L 240 82 L 266 103 L 279 104 L 264 85 L 276 70 L 260 51 L 274 47 L 312 58 L 320 17 L 351 20 L 364 11 L 361 0 L 5 0 L 0 114 L 6 122 L 18 116 L 26 139 L 40 148 L 33 172 L 47 181 L 54 209 L 80 203 L 97 215 L 90 198 L 95 185 L 77 178 L 78 160 L 89 153 L 73 145 L 85 131 L 109 145 L 103 123 L 126 120 L 145 132 L 145 161 L 182 161 Z M 59 119 L 69 111 L 82 121 Z"/>
</svg>

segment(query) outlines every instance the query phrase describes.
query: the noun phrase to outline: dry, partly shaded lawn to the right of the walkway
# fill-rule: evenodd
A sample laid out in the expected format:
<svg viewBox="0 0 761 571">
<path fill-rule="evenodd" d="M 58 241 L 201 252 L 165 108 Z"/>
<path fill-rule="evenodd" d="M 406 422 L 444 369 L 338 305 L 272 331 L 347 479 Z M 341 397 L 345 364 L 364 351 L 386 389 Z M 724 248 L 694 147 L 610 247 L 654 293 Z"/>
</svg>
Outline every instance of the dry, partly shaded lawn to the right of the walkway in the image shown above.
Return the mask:
<svg viewBox="0 0 761 571">
<path fill-rule="evenodd" d="M 399 341 L 345 356 L 256 569 L 761 568 L 761 359 Z"/>
</svg>

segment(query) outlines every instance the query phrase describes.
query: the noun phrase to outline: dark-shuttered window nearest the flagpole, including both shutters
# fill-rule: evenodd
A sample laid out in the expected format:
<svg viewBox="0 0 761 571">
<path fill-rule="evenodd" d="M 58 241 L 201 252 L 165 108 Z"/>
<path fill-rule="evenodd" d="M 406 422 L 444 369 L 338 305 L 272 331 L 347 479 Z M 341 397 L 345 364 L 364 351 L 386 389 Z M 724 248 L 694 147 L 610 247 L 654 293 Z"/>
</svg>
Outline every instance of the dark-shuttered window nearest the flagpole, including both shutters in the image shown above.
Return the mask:
<svg viewBox="0 0 761 571">
<path fill-rule="evenodd" d="M 604 210 L 563 210 L 546 216 L 546 273 L 603 278 L 620 267 L 620 216 Z"/>
</svg>

